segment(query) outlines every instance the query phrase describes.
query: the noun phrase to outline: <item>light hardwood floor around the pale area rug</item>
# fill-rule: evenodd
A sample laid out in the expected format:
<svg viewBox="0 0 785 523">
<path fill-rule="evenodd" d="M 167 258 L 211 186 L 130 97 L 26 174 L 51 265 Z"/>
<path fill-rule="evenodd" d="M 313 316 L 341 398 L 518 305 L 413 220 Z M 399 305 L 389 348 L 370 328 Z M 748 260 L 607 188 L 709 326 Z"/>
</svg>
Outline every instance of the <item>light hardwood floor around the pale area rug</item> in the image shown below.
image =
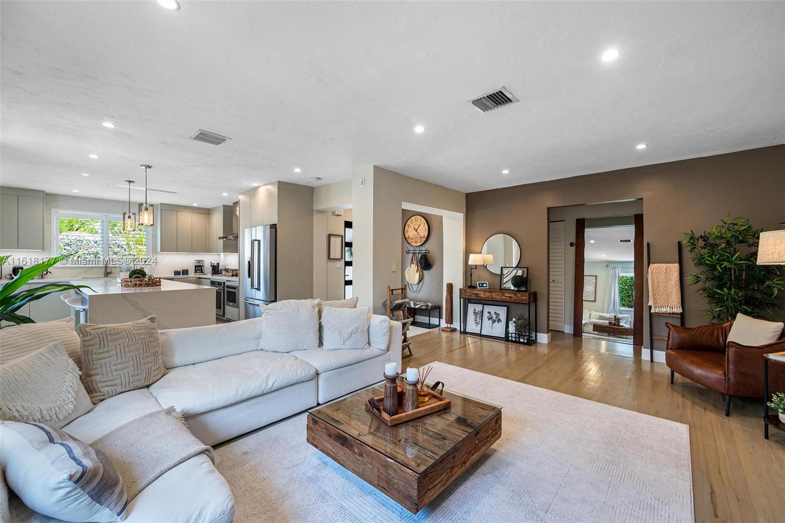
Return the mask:
<svg viewBox="0 0 785 523">
<path fill-rule="evenodd" d="M 557 332 L 552 340 L 520 346 L 433 330 L 411 338 L 403 367 L 442 361 L 686 423 L 696 521 L 785 521 L 785 433 L 763 439 L 762 399 L 734 398 L 726 418 L 720 393 L 678 375 L 671 386 L 666 365 L 641 360 L 640 347 Z"/>
</svg>

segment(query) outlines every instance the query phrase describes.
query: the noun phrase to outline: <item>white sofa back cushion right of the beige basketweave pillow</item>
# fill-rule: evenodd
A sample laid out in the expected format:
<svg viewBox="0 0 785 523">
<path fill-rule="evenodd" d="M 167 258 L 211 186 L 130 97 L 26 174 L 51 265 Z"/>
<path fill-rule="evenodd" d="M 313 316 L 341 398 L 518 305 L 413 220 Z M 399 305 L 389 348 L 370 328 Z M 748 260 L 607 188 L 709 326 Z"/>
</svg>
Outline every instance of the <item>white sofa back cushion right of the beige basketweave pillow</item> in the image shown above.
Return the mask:
<svg viewBox="0 0 785 523">
<path fill-rule="evenodd" d="M 263 319 L 165 329 L 158 332 L 165 368 L 182 367 L 258 350 Z"/>
</svg>

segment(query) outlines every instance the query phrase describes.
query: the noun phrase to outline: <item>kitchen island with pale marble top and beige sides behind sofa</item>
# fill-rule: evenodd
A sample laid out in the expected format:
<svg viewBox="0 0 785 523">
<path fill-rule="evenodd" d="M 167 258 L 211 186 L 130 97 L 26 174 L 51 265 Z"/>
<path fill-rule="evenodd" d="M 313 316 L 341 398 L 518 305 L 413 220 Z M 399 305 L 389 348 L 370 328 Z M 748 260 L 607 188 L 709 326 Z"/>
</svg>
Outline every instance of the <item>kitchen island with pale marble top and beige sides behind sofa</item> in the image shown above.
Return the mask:
<svg viewBox="0 0 785 523">
<path fill-rule="evenodd" d="M 87 302 L 90 324 L 122 324 L 156 316 L 159 330 L 215 324 L 215 289 L 162 280 L 160 287 L 122 287 L 116 278 L 74 280 Z"/>
</svg>

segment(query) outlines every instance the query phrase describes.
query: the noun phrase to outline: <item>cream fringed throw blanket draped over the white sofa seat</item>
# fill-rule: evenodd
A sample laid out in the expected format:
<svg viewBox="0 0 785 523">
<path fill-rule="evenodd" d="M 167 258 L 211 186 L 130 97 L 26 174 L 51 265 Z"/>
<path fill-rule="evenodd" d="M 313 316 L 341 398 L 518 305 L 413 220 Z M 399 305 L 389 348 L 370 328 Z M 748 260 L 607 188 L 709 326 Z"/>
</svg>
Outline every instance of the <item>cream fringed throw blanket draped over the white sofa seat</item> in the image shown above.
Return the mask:
<svg viewBox="0 0 785 523">
<path fill-rule="evenodd" d="M 173 407 L 127 422 L 90 445 L 115 466 L 129 501 L 161 474 L 200 452 L 215 463 L 213 449 L 196 439 Z"/>
</svg>

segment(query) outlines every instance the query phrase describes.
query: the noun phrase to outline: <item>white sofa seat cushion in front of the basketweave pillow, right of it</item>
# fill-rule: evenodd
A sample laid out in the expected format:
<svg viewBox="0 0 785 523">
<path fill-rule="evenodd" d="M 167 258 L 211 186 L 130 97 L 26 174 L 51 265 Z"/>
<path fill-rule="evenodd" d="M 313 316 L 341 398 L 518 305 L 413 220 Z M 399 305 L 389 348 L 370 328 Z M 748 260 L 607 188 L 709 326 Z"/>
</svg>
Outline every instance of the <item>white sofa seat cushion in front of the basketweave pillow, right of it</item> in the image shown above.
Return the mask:
<svg viewBox="0 0 785 523">
<path fill-rule="evenodd" d="M 170 369 L 148 388 L 162 407 L 174 406 L 189 416 L 305 382 L 315 375 L 316 369 L 299 358 L 255 350 Z"/>
</svg>

